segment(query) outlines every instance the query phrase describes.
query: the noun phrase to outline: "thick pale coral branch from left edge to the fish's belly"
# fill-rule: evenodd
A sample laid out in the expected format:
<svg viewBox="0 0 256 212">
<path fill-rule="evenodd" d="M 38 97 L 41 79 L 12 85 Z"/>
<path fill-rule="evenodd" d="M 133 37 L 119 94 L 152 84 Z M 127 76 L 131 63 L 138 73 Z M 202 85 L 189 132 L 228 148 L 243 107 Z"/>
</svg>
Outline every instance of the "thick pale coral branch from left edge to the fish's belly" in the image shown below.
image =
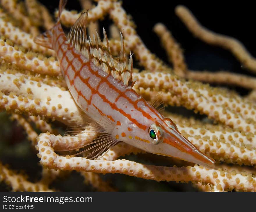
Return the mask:
<svg viewBox="0 0 256 212">
<path fill-rule="evenodd" d="M 80 109 L 69 91 L 26 79 L 25 76 L 2 73 L 0 78 L 0 108 L 28 115 L 51 117 L 68 124 L 81 119 Z"/>
</svg>

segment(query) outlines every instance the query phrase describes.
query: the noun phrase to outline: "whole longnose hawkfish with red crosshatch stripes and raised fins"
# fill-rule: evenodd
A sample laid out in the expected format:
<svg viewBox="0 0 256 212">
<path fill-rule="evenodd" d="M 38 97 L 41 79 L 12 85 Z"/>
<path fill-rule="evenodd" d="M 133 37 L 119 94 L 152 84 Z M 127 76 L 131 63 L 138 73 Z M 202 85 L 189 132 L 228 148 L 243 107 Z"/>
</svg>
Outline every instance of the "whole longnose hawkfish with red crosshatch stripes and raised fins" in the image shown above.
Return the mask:
<svg viewBox="0 0 256 212">
<path fill-rule="evenodd" d="M 132 58 L 126 69 L 122 34 L 122 50 L 116 59 L 111 56 L 104 28 L 103 42 L 97 33 L 87 38 L 87 11 L 66 37 L 60 23 L 65 4 L 62 0 L 59 3 L 56 25 L 34 41 L 56 51 L 70 93 L 100 132 L 97 139 L 89 142 L 89 147 L 94 145 L 95 149 L 87 157 L 96 158 L 124 141 L 146 152 L 213 168 L 214 159 L 200 152 L 170 118 L 161 115 L 132 89 Z"/>
</svg>

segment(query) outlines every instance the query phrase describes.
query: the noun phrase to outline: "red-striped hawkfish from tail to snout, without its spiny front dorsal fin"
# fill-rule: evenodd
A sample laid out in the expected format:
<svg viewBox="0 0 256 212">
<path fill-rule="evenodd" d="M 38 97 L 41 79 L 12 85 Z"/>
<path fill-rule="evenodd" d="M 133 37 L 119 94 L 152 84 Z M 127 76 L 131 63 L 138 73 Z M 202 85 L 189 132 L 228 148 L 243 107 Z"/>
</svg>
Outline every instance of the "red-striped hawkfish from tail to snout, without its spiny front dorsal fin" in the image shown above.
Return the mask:
<svg viewBox="0 0 256 212">
<path fill-rule="evenodd" d="M 65 1 L 60 1 L 59 16 L 64 6 Z M 124 141 L 147 152 L 214 166 L 215 161 L 183 137 L 173 121 L 164 118 L 131 86 L 116 80 L 76 50 L 83 48 L 87 40 L 84 38 L 87 14 L 82 13 L 72 27 L 70 41 L 59 21 L 35 38 L 38 44 L 56 51 L 61 72 L 77 105 L 102 126 L 111 142 Z M 80 47 L 75 49 L 73 45 Z"/>
</svg>

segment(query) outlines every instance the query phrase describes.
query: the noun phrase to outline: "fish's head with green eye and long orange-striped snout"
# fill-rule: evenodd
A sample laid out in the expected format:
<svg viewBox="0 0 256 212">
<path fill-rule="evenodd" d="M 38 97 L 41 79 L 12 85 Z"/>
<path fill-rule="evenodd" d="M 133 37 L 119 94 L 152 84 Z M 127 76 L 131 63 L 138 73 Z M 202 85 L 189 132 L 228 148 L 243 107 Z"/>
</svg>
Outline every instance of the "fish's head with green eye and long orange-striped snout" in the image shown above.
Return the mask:
<svg viewBox="0 0 256 212">
<path fill-rule="evenodd" d="M 146 132 L 147 138 L 145 140 L 150 143 L 144 147 L 148 148 L 149 152 L 175 157 L 206 168 L 214 168 L 214 159 L 198 150 L 193 143 L 182 136 L 170 118 L 163 118 L 159 122 L 154 121 L 149 125 Z"/>
</svg>

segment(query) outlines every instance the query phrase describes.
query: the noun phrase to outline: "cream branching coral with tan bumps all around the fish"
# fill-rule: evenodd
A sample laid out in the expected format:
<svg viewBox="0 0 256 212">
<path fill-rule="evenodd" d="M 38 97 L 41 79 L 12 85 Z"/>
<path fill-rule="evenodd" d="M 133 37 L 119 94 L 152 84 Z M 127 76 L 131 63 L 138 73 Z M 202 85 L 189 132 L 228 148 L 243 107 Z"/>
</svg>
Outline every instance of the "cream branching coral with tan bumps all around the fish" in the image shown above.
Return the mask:
<svg viewBox="0 0 256 212">
<path fill-rule="evenodd" d="M 47 8 L 36 0 L 1 0 L 0 3 L 0 109 L 10 113 L 11 118 L 24 128 L 28 140 L 36 148 L 36 151 L 31 151 L 37 154 L 42 166 L 41 179 L 30 182 L 24 173 L 17 173 L 7 164 L 0 163 L 0 180 L 13 191 L 55 191 L 56 179 L 67 177 L 73 170 L 98 191 L 117 190 L 113 183 L 104 181 L 102 174 L 107 173 L 157 182 L 192 182 L 201 191 L 256 190 L 256 171 L 253 168 L 256 165 L 255 92 L 242 97 L 228 89 L 202 83 L 218 82 L 255 89 L 255 78 L 231 72 L 189 70 L 180 44 L 166 26 L 158 23 L 154 31 L 166 49 L 170 61 L 170 65 L 166 65 L 145 46 L 121 2 L 98 0 L 94 6 L 90 1 L 81 0 L 83 9 L 89 9 L 89 33 L 98 28 L 99 19 L 109 15 L 113 21 L 109 38 L 113 55 L 120 52 L 120 29 L 127 56 L 133 52 L 136 62 L 145 68 L 133 74 L 136 79 L 134 90 L 138 94 L 152 102 L 161 91 L 162 100 L 169 108 L 182 106 L 207 116 L 208 121 L 205 121 L 165 112 L 165 116 L 177 124 L 186 138 L 216 160 L 216 167 L 209 170 L 184 161 L 146 154 L 123 142 L 97 160 L 71 153 L 63 156 L 58 154 L 63 146 L 80 148 L 94 139 L 97 132 L 84 126 L 77 135 L 74 132 L 62 136 L 59 127 L 56 128 L 56 123 L 64 128 L 74 125 L 74 122 L 84 123 L 84 116 L 67 89 L 54 51 L 33 42 L 33 37 L 40 33 L 39 27 L 45 30 L 51 28 L 54 19 Z M 196 37 L 231 51 L 247 69 L 255 72 L 255 58 L 239 41 L 202 27 L 184 6 L 177 6 L 175 12 Z M 68 27 L 78 17 L 79 13 L 64 10 L 61 21 Z M 53 121 L 54 124 L 51 123 Z M 145 156 L 151 161 L 161 158 L 160 161 L 169 161 L 176 166 L 156 166 L 119 159 L 129 154 L 139 154 L 140 158 Z"/>
</svg>

